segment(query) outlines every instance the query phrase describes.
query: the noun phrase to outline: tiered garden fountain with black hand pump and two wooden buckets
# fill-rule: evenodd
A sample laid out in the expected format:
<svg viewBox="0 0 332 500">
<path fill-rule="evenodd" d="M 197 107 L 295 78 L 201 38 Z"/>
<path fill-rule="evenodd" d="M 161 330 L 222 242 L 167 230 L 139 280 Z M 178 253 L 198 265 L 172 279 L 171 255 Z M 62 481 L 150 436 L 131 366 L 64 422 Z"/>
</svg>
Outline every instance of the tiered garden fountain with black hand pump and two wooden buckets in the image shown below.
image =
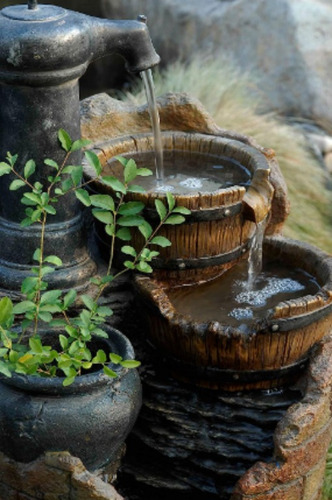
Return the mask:
<svg viewBox="0 0 332 500">
<path fill-rule="evenodd" d="M 90 61 L 116 50 L 133 71 L 144 71 L 158 62 L 144 22 L 96 20 L 58 7 L 38 5 L 35 0 L 29 0 L 28 8 L 3 9 L 0 33 L 0 153 L 5 156 L 7 150 L 17 152 L 22 162 L 19 172 L 30 157 L 40 165 L 45 155 L 57 160 L 55 137 L 60 127 L 74 139 L 80 136 L 77 82 Z M 90 109 L 97 101 L 90 100 Z M 83 106 L 87 109 L 89 103 Z M 112 158 L 119 154 L 133 156 L 139 164 L 150 163 L 155 146 L 147 125 L 147 111 L 121 109 L 121 105 L 115 108 L 111 109 L 112 121 L 106 133 L 99 127 L 100 123 L 102 127 L 108 123 L 107 99 L 106 104 L 103 101 L 102 119 L 83 119 L 83 134 L 97 139 L 94 147 L 104 168 L 116 173 L 119 165 Z M 189 108 L 189 116 L 182 114 L 184 108 Z M 316 461 L 302 468 L 296 462 L 301 455 L 295 457 L 293 469 L 301 469 L 301 482 L 288 467 L 291 453 L 287 452 L 288 447 L 301 445 L 305 438 L 301 441 L 298 437 L 296 442 L 295 437 L 291 441 L 286 424 L 273 463 L 261 466 L 268 476 L 267 484 L 255 485 L 253 476 L 246 471 L 257 460 L 271 460 L 274 428 L 278 422 L 284 422 L 287 408 L 306 394 L 306 404 L 314 412 L 310 387 L 315 395 L 324 393 L 324 387 L 315 378 L 314 364 L 310 365 L 309 389 L 303 388 L 303 378 L 295 388 L 289 384 L 303 373 L 310 349 L 330 330 L 331 258 L 313 247 L 273 236 L 265 240 L 267 260 L 276 260 L 278 265 L 291 269 L 300 267 L 300 281 L 303 278 L 305 286 L 300 282 L 297 298 L 277 302 L 268 311 L 263 305 L 263 314 L 254 323 L 245 323 L 243 316 L 238 316 L 235 320 L 240 318 L 240 322 L 235 326 L 228 324 L 232 317 L 226 321 L 213 321 L 212 317 L 212 322 L 196 319 L 193 308 L 190 315 L 183 314 L 182 298 L 176 303 L 177 294 L 197 289 L 201 295 L 199 286 L 213 286 L 212 278 L 223 283 L 228 273 L 248 259 L 256 224 L 266 221 L 266 233 L 278 233 L 288 207 L 283 179 L 270 150 L 259 147 L 250 138 L 218 129 L 200 105 L 186 96 L 166 97 L 160 111 L 164 159 L 175 170 L 179 163 L 184 165 L 175 185 L 183 182 L 189 189 L 179 194 L 175 189 L 175 197 L 192 213 L 177 231 L 164 233 L 173 245 L 165 248 L 155 262 L 153 279 L 136 279 L 150 328 L 137 324 L 136 312 L 134 319 L 130 321 L 127 316 L 124 321 L 128 334 L 135 326 L 131 336 L 142 355 L 146 391 L 141 419 L 133 432 L 134 446 L 129 444 L 124 466 L 124 477 L 134 478 L 130 495 L 156 498 L 158 494 L 159 498 L 168 498 L 172 494 L 179 499 L 204 495 L 207 499 L 226 499 L 234 490 L 236 500 L 255 498 L 256 491 L 260 500 L 311 500 L 319 490 L 314 485 L 315 467 L 323 462 L 326 447 L 317 446 L 316 454 L 313 453 Z M 130 128 L 127 124 L 121 129 L 121 123 L 114 122 L 123 112 L 130 115 Z M 80 158 L 77 156 L 75 161 Z M 88 168 L 85 173 L 89 176 Z M 177 172 L 173 174 L 176 177 Z M 224 182 L 226 174 L 232 177 L 228 184 Z M 40 180 L 50 175 L 47 165 L 40 175 Z M 201 182 L 207 182 L 207 187 L 202 187 Z M 167 174 L 157 171 L 156 184 L 142 195 L 151 224 L 156 218 L 154 201 L 165 202 L 170 186 Z M 191 190 L 193 186 L 196 191 Z M 94 188 L 103 190 L 104 186 L 97 184 Z M 0 183 L 0 196 L 0 235 L 8 243 L 0 253 L 0 284 L 15 294 L 22 276 L 28 272 L 38 232 L 19 229 L 19 203 L 5 182 Z M 63 274 L 54 273 L 53 284 L 63 288 L 84 286 L 94 274 L 96 263 L 89 255 L 86 229 L 76 200 L 69 198 L 58 214 L 47 234 L 46 247 L 59 254 L 66 270 Z M 99 239 L 107 245 L 104 234 Z M 135 233 L 133 244 L 139 241 L 140 236 Z M 202 281 L 207 283 L 200 285 Z M 310 296 L 308 282 L 312 286 Z M 181 286 L 178 288 L 177 284 Z M 145 344 L 146 337 L 153 344 L 152 350 Z M 328 355 L 320 359 L 326 364 Z M 327 386 L 332 375 L 330 379 L 328 374 L 323 378 Z M 255 392 L 251 392 L 253 388 Z M 243 389 L 245 392 L 239 392 Z M 316 402 L 321 413 L 322 408 L 328 407 L 328 397 L 326 390 Z M 331 434 L 331 419 L 324 420 L 318 410 L 314 433 L 326 441 Z M 292 412 L 295 414 L 296 410 L 288 416 L 289 429 L 294 432 Z M 295 420 L 298 426 L 300 417 Z M 313 435 L 310 432 L 306 433 L 307 439 Z M 4 467 L 15 469 L 17 474 L 20 464 L 8 465 L 0 458 Z M 47 457 L 48 465 L 50 460 Z M 61 460 L 60 457 L 59 463 Z M 64 463 L 65 459 L 62 468 Z M 241 476 L 243 480 L 234 489 Z M 295 482 L 297 496 L 285 497 L 283 492 L 271 496 L 274 478 L 279 483 L 289 481 L 290 488 Z M 5 491 L 10 489 L 11 484 Z M 262 491 L 263 495 L 267 492 L 265 497 Z M 31 496 L 30 490 L 26 493 Z M 61 491 L 62 498 L 65 494 Z"/>
</svg>

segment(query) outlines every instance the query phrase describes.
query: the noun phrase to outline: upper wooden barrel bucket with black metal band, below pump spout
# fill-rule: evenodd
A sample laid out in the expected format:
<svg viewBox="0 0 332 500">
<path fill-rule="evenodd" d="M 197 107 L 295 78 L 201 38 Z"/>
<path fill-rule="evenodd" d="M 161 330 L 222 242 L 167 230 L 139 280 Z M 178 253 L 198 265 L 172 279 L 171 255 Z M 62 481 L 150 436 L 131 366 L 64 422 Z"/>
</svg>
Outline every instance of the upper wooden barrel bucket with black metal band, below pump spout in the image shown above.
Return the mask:
<svg viewBox="0 0 332 500">
<path fill-rule="evenodd" d="M 192 155 L 197 154 L 202 156 L 203 162 L 204 158 L 216 162 L 228 158 L 249 171 L 249 189 L 234 185 L 211 193 L 174 195 L 177 205 L 189 208 L 192 213 L 186 217 L 184 224 L 169 225 L 162 229 L 160 234 L 168 238 L 172 245 L 157 248 L 160 256 L 152 262 L 154 276 L 176 283 L 204 281 L 225 271 L 247 253 L 255 229 L 252 222 L 254 216 L 263 218 L 271 206 L 273 189 L 268 181 L 269 163 L 257 149 L 237 140 L 174 131 L 163 132 L 162 136 L 166 157 L 175 155 L 176 160 L 189 163 Z M 113 139 L 100 144 L 95 151 L 103 164 L 103 175 L 121 175 L 122 166 L 114 158 L 117 155 L 134 158 L 140 166 L 142 162 L 143 166 L 150 168 L 154 164 L 153 137 L 149 133 Z M 204 171 L 204 164 L 201 168 Z M 190 167 L 186 173 L 190 176 Z M 93 175 L 89 167 L 85 166 L 86 178 L 89 180 Z M 108 192 L 110 188 L 95 182 L 92 189 Z M 253 206 L 249 200 L 251 190 L 255 193 L 257 206 Z M 157 220 L 154 201 L 158 198 L 166 203 L 165 193 L 135 193 L 130 196 L 145 203 L 145 215 L 154 224 Z M 98 235 L 103 242 L 107 242 L 103 229 L 98 231 Z M 131 244 L 141 248 L 143 238 L 138 231 Z"/>
</svg>

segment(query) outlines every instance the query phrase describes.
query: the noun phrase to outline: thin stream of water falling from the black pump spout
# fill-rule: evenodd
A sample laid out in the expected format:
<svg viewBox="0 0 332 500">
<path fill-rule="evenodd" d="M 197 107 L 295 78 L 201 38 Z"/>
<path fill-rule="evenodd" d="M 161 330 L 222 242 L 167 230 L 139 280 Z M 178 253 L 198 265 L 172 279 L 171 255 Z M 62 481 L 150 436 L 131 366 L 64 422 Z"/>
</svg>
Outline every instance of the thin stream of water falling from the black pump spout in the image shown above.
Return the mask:
<svg viewBox="0 0 332 500">
<path fill-rule="evenodd" d="M 164 182 L 163 144 L 161 139 L 160 117 L 157 108 L 156 95 L 154 91 L 152 70 L 147 69 L 146 71 L 142 71 L 141 77 L 144 84 L 144 90 L 145 90 L 146 100 L 148 103 L 153 137 L 154 137 L 156 179 L 157 179 L 157 187 L 159 187 Z"/>
</svg>

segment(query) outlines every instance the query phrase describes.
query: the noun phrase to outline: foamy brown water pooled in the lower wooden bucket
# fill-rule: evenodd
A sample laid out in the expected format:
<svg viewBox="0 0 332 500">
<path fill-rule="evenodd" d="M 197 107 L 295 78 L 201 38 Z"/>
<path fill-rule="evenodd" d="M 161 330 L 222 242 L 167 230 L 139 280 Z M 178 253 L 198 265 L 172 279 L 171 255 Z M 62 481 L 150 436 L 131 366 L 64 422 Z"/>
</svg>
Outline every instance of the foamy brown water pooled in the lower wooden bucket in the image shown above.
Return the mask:
<svg viewBox="0 0 332 500">
<path fill-rule="evenodd" d="M 280 262 L 265 264 L 249 286 L 248 263 L 243 261 L 215 280 L 175 288 L 169 298 L 193 321 L 218 321 L 249 333 L 278 303 L 314 295 L 319 289 L 313 276 Z"/>
</svg>

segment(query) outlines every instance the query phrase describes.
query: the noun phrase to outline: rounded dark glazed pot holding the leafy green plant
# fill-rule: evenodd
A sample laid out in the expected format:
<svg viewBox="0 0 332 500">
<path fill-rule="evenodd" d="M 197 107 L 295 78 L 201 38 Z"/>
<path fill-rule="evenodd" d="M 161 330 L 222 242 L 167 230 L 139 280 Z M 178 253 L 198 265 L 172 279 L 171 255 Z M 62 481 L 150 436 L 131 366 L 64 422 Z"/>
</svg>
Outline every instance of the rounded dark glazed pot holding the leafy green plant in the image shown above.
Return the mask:
<svg viewBox="0 0 332 500">
<path fill-rule="evenodd" d="M 133 359 L 129 340 L 118 330 L 108 330 L 102 348 Z M 112 462 L 141 407 L 137 371 L 115 370 L 115 379 L 98 371 L 77 377 L 67 387 L 60 377 L 1 377 L 0 450 L 19 462 L 33 461 L 46 451 L 69 451 L 89 470 Z"/>
</svg>

